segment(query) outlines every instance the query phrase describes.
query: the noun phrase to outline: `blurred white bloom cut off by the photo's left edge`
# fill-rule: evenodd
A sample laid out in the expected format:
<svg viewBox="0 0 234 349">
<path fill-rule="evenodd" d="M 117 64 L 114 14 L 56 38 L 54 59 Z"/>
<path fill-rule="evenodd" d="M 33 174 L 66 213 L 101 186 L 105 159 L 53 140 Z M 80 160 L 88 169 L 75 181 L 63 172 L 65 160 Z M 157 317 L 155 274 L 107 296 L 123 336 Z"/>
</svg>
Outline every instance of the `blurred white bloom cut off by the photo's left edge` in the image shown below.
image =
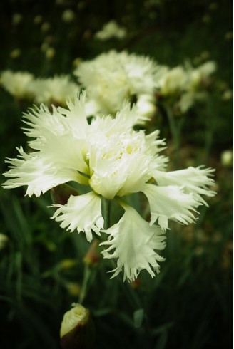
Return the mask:
<svg viewBox="0 0 234 349">
<path fill-rule="evenodd" d="M 1 85 L 16 98 L 32 98 L 31 82 L 34 75 L 27 71 L 2 71 Z"/>
</svg>

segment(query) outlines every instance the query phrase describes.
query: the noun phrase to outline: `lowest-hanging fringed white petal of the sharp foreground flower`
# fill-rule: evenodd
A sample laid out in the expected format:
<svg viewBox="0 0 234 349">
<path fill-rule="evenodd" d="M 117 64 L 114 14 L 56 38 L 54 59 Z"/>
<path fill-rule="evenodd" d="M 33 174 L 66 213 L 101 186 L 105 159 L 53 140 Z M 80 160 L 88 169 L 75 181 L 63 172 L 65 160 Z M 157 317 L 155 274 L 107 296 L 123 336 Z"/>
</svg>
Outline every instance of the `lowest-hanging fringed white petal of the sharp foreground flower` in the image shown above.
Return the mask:
<svg viewBox="0 0 234 349">
<path fill-rule="evenodd" d="M 108 240 L 101 243 L 102 246 L 108 246 L 102 252 L 104 258 L 118 259 L 112 278 L 122 269 L 124 269 L 123 281 L 126 278 L 128 281 L 135 280 L 142 269 L 146 269 L 153 278 L 154 271 L 159 273 L 158 261 L 164 261 L 155 250 L 164 249 L 166 237 L 163 236 L 159 226 L 151 226 L 135 209 L 126 204 L 122 206 L 125 209 L 123 217 L 105 231 L 109 234 Z"/>
</svg>

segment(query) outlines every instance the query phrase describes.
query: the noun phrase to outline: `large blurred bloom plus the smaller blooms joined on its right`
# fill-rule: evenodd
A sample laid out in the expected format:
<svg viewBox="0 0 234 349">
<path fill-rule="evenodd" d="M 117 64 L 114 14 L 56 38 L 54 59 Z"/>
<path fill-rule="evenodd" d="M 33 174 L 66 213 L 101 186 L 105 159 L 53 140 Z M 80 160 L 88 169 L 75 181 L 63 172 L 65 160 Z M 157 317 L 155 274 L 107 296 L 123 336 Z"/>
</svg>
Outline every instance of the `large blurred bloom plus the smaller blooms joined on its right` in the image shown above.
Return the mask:
<svg viewBox="0 0 234 349">
<path fill-rule="evenodd" d="M 157 103 L 171 103 L 185 113 L 196 101 L 204 100 L 215 69 L 214 61 L 198 68 L 189 63 L 169 68 L 146 56 L 109 51 L 83 61 L 73 73 L 87 90 L 88 115 L 115 115 L 130 100 L 136 102 L 138 113 L 151 117 Z"/>
</svg>

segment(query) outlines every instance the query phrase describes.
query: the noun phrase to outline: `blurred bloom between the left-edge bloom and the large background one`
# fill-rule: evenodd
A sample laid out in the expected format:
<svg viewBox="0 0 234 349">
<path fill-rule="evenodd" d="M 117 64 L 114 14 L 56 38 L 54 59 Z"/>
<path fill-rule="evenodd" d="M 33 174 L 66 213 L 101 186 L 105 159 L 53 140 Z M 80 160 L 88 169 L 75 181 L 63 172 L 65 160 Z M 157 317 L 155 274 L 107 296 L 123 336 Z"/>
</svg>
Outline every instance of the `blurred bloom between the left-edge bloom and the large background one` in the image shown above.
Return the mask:
<svg viewBox="0 0 234 349">
<path fill-rule="evenodd" d="M 55 75 L 53 78 L 38 78 L 31 84 L 36 103 L 66 105 L 68 98 L 77 95 L 79 87 L 68 75 Z"/>
</svg>

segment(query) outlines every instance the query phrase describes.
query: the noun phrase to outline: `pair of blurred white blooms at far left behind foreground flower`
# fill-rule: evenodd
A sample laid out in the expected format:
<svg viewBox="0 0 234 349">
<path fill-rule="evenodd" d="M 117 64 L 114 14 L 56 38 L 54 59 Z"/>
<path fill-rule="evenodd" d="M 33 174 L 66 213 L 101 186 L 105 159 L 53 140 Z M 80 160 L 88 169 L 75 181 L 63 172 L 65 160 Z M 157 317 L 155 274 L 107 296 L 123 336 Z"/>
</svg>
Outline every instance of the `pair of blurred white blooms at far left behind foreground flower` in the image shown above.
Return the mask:
<svg viewBox="0 0 234 349">
<path fill-rule="evenodd" d="M 1 86 L 17 99 L 32 100 L 34 103 L 66 105 L 68 98 L 79 92 L 77 83 L 68 75 L 52 78 L 35 78 L 26 71 L 2 71 Z"/>
</svg>

